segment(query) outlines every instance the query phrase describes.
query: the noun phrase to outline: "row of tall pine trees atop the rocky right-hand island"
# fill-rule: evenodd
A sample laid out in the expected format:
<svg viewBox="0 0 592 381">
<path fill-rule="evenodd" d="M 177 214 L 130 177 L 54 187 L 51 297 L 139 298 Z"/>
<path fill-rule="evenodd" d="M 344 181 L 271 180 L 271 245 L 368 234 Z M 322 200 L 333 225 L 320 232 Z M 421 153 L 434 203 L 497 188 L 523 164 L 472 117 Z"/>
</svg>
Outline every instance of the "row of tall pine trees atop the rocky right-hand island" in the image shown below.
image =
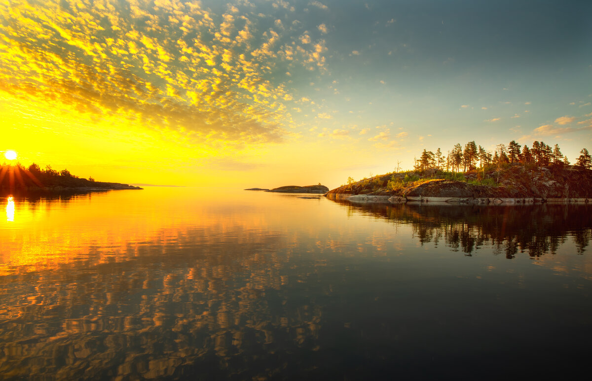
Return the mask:
<svg viewBox="0 0 592 381">
<path fill-rule="evenodd" d="M 553 148 L 543 141 L 534 141 L 532 147 L 521 147 L 516 141 L 510 141 L 510 144 L 498 144 L 496 150 L 485 150 L 477 146 L 475 141 L 469 141 L 464 149 L 457 143 L 446 155 L 442 154 L 440 148 L 436 153 L 423 150 L 419 159 L 414 159 L 415 170 L 439 169 L 452 170 L 452 172 L 466 172 L 471 169 L 485 168 L 492 164 L 504 166 L 506 164 L 520 163 L 523 165 L 531 164 L 536 166 L 549 165 L 570 165 L 567 156 L 561 153 L 558 144 Z M 478 166 L 477 166 L 478 164 Z M 580 151 L 580 157 L 575 162 L 575 166 L 582 169 L 592 169 L 592 157 L 586 148 Z"/>
</svg>

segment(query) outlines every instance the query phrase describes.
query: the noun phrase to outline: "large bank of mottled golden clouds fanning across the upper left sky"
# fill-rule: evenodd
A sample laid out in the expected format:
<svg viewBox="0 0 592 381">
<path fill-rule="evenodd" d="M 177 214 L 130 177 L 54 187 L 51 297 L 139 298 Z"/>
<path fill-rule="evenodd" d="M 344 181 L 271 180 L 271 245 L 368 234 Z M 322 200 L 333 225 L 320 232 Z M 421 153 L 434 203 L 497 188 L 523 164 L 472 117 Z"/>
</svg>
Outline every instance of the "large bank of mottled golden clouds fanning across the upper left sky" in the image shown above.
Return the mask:
<svg viewBox="0 0 592 381">
<path fill-rule="evenodd" d="M 307 35 L 301 44 L 284 31 L 289 16 L 258 18 L 269 10 L 263 5 L 239 1 L 213 14 L 198 2 L 63 3 L 35 2 L 18 12 L 0 3 L 5 98 L 121 128 L 142 125 L 184 144 L 265 144 L 287 136 L 288 110 L 307 99 L 273 73 L 326 70 L 325 41 Z"/>
</svg>

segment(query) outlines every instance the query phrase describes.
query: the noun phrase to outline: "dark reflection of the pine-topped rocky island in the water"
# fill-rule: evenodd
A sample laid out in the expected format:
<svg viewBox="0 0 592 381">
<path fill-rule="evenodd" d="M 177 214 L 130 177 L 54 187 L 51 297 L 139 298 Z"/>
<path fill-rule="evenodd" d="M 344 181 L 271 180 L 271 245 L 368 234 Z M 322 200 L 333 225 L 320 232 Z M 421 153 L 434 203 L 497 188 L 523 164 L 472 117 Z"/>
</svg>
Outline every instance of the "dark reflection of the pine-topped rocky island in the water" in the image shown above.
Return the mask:
<svg viewBox="0 0 592 381">
<path fill-rule="evenodd" d="M 592 238 L 592 206 L 589 205 L 349 205 L 349 212 L 384 218 L 413 227 L 420 243 L 444 241 L 453 251 L 471 256 L 483 245 L 513 258 L 527 252 L 531 257 L 555 254 L 572 237 L 577 253 Z"/>
</svg>

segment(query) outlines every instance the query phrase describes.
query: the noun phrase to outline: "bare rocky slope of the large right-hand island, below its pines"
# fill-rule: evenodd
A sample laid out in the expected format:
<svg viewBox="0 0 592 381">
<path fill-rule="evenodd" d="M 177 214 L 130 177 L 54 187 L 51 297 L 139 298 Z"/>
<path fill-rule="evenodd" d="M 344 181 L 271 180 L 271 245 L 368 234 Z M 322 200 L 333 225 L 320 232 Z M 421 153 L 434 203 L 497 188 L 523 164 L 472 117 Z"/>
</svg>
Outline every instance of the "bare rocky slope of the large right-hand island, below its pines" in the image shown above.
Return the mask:
<svg viewBox="0 0 592 381">
<path fill-rule="evenodd" d="M 532 204 L 592 202 L 592 170 L 574 166 L 509 166 L 451 175 L 438 170 L 388 173 L 325 193 L 351 202 Z"/>
</svg>

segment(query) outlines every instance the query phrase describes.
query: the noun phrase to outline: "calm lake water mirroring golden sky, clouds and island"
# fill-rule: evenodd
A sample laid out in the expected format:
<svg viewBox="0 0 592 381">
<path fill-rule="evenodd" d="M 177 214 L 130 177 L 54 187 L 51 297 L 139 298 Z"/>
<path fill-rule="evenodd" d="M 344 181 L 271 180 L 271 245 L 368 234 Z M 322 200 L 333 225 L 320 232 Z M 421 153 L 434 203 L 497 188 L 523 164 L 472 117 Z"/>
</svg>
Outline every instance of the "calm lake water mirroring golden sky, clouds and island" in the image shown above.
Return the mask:
<svg viewBox="0 0 592 381">
<path fill-rule="evenodd" d="M 590 206 L 147 188 L 0 199 L 0 212 L 2 379 L 588 368 Z"/>
</svg>

